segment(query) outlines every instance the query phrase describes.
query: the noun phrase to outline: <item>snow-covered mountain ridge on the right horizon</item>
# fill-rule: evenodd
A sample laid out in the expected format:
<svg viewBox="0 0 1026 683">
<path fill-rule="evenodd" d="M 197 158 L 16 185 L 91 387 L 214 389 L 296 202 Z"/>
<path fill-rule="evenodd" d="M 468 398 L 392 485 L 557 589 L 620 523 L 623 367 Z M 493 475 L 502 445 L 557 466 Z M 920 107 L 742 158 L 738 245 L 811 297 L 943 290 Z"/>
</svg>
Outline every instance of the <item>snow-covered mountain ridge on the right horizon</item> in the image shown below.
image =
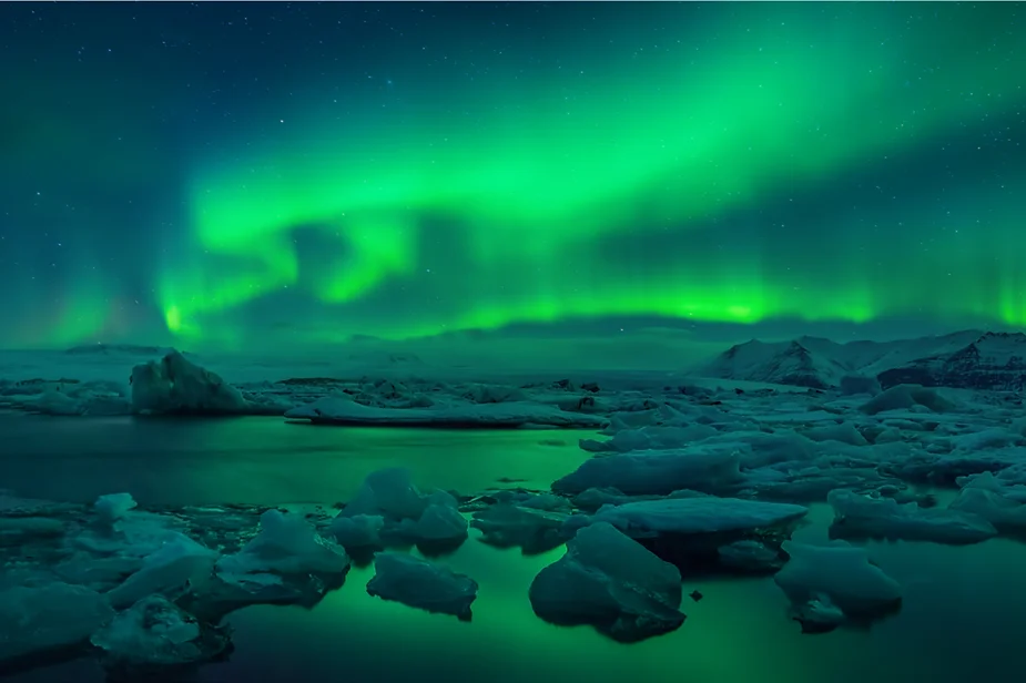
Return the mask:
<svg viewBox="0 0 1026 683">
<path fill-rule="evenodd" d="M 1022 391 L 1026 389 L 1026 334 L 963 330 L 936 337 L 839 344 L 820 337 L 753 339 L 732 346 L 702 375 L 816 389 L 849 375 L 898 384 Z"/>
</svg>

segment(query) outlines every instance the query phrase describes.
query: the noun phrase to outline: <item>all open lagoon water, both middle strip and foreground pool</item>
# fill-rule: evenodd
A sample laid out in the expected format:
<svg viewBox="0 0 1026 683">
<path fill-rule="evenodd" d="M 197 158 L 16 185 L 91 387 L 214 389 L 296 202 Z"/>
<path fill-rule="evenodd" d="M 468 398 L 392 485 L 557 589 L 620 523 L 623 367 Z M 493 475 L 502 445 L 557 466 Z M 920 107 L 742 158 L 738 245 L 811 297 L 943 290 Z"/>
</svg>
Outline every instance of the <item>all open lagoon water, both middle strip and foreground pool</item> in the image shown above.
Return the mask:
<svg viewBox="0 0 1026 683">
<path fill-rule="evenodd" d="M 314 428 L 278 418 L 133 420 L 0 416 L 0 486 L 22 496 L 88 501 L 128 490 L 146 504 L 344 500 L 369 471 L 402 465 L 426 485 L 475 492 L 521 479 L 546 488 L 587 453 L 581 432 Z M 556 446 L 561 441 L 565 446 Z M 800 539 L 825 538 L 815 507 Z M 235 651 L 199 681 L 346 680 L 392 683 L 693 681 L 697 683 L 962 683 L 1019 680 L 1026 635 L 1026 547 L 871 543 L 905 587 L 900 614 L 871 630 L 801 635 L 769 579 L 684 578 L 684 625 L 621 645 L 581 626 L 539 620 L 527 599 L 535 574 L 562 550 L 521 557 L 474 540 L 441 560 L 481 585 L 474 620 L 370 598 L 373 568 L 313 610 L 256 606 L 228 616 Z M 89 660 L 37 669 L 18 683 L 103 681 Z"/>
</svg>

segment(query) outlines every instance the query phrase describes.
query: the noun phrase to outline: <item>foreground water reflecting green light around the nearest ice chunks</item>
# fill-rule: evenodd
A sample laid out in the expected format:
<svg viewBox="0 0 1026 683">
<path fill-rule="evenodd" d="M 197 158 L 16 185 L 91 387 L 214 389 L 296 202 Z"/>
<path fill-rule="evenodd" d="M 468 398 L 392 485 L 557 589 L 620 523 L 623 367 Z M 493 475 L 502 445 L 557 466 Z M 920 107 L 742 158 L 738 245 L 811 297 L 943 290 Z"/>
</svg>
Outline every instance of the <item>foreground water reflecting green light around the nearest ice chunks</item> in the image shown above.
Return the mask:
<svg viewBox="0 0 1026 683">
<path fill-rule="evenodd" d="M 798 538 L 825 538 L 830 511 L 816 507 L 812 517 Z M 365 587 L 373 568 L 354 569 L 346 585 L 313 611 L 255 608 L 230 618 L 238 649 L 226 669 L 205 670 L 204 680 L 222 680 L 226 671 L 256 675 L 267 666 L 272 643 L 298 681 L 344 671 L 346 680 L 389 683 L 954 683 L 978 676 L 982 661 L 993 662 L 988 681 L 1017 680 L 1018 642 L 1026 634 L 1026 579 L 1018 568 L 1026 565 L 1026 548 L 1015 543 L 874 543 L 873 557 L 906 587 L 902 613 L 868 631 L 822 636 L 803 636 L 788 621 L 772 580 L 685 578 L 684 592 L 697 588 L 704 598 L 685 598 L 684 625 L 620 645 L 587 626 L 549 625 L 531 611 L 528 587 L 562 549 L 524 558 L 476 538 L 473 532 L 439 560 L 480 583 L 471 623 L 370 598 Z"/>
</svg>

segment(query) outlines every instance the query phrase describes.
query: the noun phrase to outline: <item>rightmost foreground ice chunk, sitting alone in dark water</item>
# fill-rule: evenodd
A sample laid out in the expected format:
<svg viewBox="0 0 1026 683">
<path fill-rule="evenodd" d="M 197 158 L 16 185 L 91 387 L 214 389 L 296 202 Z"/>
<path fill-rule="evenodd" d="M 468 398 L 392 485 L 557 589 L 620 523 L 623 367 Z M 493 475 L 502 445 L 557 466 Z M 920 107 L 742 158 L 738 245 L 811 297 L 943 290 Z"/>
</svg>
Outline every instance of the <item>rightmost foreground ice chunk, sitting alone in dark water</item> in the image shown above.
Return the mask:
<svg viewBox="0 0 1026 683">
<path fill-rule="evenodd" d="M 793 605 L 825 597 L 849 618 L 873 618 L 901 604 L 901 585 L 870 562 L 864 548 L 843 541 L 822 547 L 784 541 L 782 548 L 791 560 L 773 580 Z"/>
</svg>

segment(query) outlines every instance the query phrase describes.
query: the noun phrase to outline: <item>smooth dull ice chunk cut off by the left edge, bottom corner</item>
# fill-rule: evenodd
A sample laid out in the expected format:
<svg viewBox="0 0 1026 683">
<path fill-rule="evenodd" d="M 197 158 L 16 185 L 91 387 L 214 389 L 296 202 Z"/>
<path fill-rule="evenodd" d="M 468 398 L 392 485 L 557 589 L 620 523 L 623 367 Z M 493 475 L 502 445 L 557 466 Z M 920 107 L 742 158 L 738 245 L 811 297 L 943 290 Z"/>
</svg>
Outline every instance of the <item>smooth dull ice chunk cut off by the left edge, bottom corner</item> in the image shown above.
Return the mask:
<svg viewBox="0 0 1026 683">
<path fill-rule="evenodd" d="M 0 663 L 85 642 L 113 615 L 106 598 L 81 585 L 0 591 Z"/>
</svg>

